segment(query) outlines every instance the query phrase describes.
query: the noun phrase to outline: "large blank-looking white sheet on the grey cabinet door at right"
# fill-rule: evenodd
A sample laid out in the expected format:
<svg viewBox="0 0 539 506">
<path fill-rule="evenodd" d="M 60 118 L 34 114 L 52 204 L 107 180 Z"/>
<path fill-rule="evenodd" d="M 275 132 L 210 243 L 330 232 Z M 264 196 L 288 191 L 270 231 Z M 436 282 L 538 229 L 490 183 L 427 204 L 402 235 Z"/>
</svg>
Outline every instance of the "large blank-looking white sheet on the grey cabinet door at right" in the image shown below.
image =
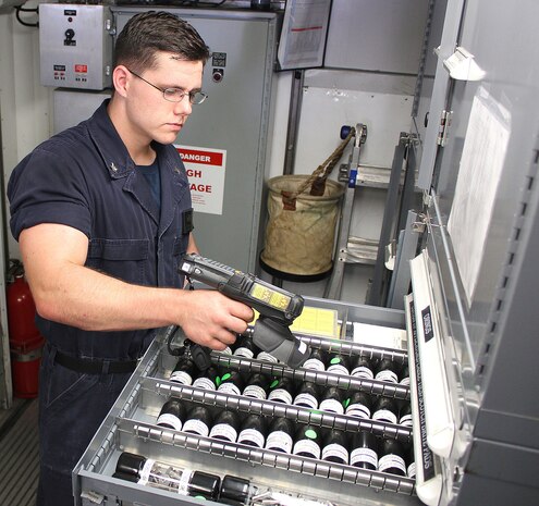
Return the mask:
<svg viewBox="0 0 539 506">
<path fill-rule="evenodd" d="M 479 87 L 471 104 L 448 222 L 468 306 L 477 286 L 510 134 L 510 112 Z"/>
</svg>

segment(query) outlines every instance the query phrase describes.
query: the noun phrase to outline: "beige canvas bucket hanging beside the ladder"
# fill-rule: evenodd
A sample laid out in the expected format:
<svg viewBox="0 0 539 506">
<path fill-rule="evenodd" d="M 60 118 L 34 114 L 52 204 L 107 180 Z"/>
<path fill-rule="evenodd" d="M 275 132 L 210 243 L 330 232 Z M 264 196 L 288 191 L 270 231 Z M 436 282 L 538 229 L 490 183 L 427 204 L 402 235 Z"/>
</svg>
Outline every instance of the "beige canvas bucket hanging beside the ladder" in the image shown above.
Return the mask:
<svg viewBox="0 0 539 506">
<path fill-rule="evenodd" d="M 281 192 L 294 193 L 308 175 L 282 175 L 268 181 L 266 245 L 264 263 L 294 275 L 317 275 L 332 267 L 335 225 L 344 186 L 328 180 L 322 196 L 308 190 L 296 197 L 296 209 L 284 209 Z"/>
</svg>

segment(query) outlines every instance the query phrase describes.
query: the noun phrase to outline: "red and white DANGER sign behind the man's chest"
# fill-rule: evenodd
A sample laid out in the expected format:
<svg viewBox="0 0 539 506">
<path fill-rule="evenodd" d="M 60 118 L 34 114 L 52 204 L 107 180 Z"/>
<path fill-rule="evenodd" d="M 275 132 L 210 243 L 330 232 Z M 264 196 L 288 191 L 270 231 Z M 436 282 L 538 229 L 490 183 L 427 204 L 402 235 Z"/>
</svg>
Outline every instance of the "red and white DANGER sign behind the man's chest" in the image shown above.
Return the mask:
<svg viewBox="0 0 539 506">
<path fill-rule="evenodd" d="M 208 214 L 223 213 L 226 151 L 174 145 L 189 178 L 193 209 Z"/>
</svg>

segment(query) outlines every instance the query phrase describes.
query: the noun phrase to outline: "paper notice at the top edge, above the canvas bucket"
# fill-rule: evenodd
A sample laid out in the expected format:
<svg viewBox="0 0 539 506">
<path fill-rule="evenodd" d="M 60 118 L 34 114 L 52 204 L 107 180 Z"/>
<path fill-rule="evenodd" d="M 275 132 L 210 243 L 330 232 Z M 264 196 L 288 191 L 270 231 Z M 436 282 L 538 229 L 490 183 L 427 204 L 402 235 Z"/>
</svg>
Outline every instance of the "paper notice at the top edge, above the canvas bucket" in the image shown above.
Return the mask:
<svg viewBox="0 0 539 506">
<path fill-rule="evenodd" d="M 282 70 L 321 66 L 331 0 L 289 0 L 278 59 Z"/>
</svg>

